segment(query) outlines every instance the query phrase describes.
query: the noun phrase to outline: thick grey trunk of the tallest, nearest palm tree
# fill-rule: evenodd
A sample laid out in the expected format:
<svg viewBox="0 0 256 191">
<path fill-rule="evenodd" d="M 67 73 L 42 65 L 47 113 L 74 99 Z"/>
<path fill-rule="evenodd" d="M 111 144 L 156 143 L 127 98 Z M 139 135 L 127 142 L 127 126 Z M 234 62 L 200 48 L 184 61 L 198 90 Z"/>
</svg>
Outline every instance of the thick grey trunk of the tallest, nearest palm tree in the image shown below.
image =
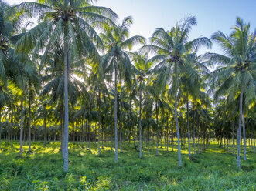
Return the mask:
<svg viewBox="0 0 256 191">
<path fill-rule="evenodd" d="M 67 35 L 64 35 L 67 38 Z M 68 60 L 68 45 L 64 39 L 64 170 L 68 170 L 68 136 L 69 136 L 69 115 L 68 115 L 68 75 L 69 75 L 69 60 Z"/>
</svg>

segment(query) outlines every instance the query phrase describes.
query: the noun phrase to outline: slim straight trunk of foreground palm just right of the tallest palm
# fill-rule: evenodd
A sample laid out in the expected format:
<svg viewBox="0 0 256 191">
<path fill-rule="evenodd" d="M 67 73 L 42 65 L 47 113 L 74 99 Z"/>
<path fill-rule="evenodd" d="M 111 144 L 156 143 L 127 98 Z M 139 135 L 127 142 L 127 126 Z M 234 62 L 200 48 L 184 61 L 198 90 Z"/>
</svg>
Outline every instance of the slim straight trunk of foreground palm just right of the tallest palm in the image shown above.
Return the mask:
<svg viewBox="0 0 256 191">
<path fill-rule="evenodd" d="M 115 163 L 118 163 L 118 70 L 114 65 L 114 152 Z"/>
</svg>

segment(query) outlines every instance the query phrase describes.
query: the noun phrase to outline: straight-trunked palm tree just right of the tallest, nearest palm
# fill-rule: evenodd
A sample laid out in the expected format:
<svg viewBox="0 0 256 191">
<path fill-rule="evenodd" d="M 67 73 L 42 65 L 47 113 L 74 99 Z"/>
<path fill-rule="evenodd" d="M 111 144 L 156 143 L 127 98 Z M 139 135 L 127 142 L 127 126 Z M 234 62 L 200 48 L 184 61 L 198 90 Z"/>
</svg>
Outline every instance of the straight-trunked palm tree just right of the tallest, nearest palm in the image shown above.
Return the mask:
<svg viewBox="0 0 256 191">
<path fill-rule="evenodd" d="M 106 26 L 106 32 L 101 34 L 101 39 L 107 49 L 103 58 L 102 69 L 106 73 L 114 72 L 114 138 L 115 138 L 115 162 L 118 162 L 118 82 L 125 79 L 131 83 L 131 61 L 125 49 L 138 43 L 145 43 L 142 36 L 132 36 L 129 38 L 129 28 L 132 24 L 131 17 L 124 18 L 121 25 Z"/>
</svg>

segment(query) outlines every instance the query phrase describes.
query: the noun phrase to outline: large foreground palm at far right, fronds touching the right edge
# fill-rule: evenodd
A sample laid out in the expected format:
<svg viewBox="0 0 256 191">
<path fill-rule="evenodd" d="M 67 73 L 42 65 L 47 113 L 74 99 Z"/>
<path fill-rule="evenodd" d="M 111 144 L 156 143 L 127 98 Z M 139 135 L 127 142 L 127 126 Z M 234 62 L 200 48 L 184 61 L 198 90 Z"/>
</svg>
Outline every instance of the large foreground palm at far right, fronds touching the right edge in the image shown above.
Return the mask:
<svg viewBox="0 0 256 191">
<path fill-rule="evenodd" d="M 255 97 L 256 81 L 256 34 L 250 33 L 250 24 L 237 18 L 236 25 L 230 35 L 216 32 L 212 39 L 223 49 L 225 55 L 207 53 L 210 61 L 220 65 L 211 72 L 213 88 L 217 89 L 215 97 L 228 95 L 228 100 L 234 100 L 239 95 L 239 130 L 237 140 L 241 139 L 243 119 L 243 102 Z M 246 150 L 246 144 L 244 144 Z M 246 157 L 246 156 L 244 156 Z M 237 166 L 240 165 L 240 141 L 237 141 Z"/>
</svg>

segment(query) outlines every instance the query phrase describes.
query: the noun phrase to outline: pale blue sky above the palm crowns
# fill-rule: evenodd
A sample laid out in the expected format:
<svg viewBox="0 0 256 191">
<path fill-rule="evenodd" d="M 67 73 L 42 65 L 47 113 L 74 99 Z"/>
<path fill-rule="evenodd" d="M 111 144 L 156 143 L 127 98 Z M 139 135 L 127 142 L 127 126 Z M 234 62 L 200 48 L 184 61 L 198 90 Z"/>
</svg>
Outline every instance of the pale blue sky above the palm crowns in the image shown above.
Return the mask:
<svg viewBox="0 0 256 191">
<path fill-rule="evenodd" d="M 32 0 L 30 0 L 32 1 Z M 28 0 L 5 0 L 10 5 L 28 2 Z M 256 27 L 256 0 L 97 0 L 96 5 L 111 8 L 121 20 L 132 16 L 131 35 L 149 38 L 155 28 L 169 30 L 187 15 L 197 18 L 197 25 L 192 28 L 189 39 L 200 36 L 210 38 L 214 32 L 230 34 L 236 17 L 250 22 L 251 32 Z M 213 44 L 213 49 L 201 49 L 204 52 L 221 53 L 220 47 Z"/>
</svg>

